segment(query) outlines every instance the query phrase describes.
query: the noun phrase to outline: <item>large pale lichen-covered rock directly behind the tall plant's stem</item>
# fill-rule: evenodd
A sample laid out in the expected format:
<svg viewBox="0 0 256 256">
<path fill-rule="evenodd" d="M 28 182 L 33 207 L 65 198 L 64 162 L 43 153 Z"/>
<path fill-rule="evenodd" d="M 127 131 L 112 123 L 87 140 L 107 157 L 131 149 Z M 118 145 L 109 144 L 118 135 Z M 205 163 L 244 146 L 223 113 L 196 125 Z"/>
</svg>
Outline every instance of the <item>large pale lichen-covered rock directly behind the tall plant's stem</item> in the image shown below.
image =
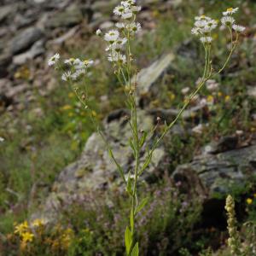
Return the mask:
<svg viewBox="0 0 256 256">
<path fill-rule="evenodd" d="M 128 143 L 131 130 L 125 117 L 126 114 L 127 111 L 121 109 L 108 116 L 104 121 L 104 136 L 113 150 L 115 159 L 127 174 L 135 166 L 135 161 Z M 153 119 L 145 111 L 139 111 L 138 122 L 141 124 L 139 128 L 146 131 L 153 124 Z M 145 152 L 143 152 L 141 158 L 145 160 Z M 160 170 L 164 168 L 163 161 L 165 159 L 164 149 L 156 148 L 152 163 L 148 166 L 147 171 L 143 173 L 143 176 L 140 177 L 140 181 L 152 180 L 157 175 L 156 170 L 161 172 Z M 98 189 L 114 189 L 117 187 L 125 189 L 122 184 L 119 172 L 108 155 L 108 147 L 98 133 L 93 133 L 88 139 L 80 159 L 61 172 L 55 182 L 54 192 L 47 198 L 40 214 L 43 214 L 44 218 L 53 218 L 55 211 L 58 211 L 58 207 L 60 207 L 60 203 L 67 204 L 68 201 L 72 200 L 72 195 L 84 196 L 86 191 Z"/>
</svg>

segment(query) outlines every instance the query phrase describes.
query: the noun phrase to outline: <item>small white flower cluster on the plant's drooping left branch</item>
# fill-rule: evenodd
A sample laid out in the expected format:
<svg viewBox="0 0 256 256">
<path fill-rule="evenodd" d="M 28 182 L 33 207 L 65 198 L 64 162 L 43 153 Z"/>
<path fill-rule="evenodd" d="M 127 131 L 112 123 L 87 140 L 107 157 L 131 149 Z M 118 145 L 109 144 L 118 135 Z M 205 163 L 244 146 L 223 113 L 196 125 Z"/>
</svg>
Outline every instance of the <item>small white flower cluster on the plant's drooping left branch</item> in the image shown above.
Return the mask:
<svg viewBox="0 0 256 256">
<path fill-rule="evenodd" d="M 53 66 L 55 68 L 61 68 L 60 63 L 61 56 L 57 53 L 49 58 L 48 65 Z M 91 60 L 84 60 L 81 61 L 80 59 L 70 58 L 64 61 L 64 64 L 67 65 L 68 70 L 62 73 L 61 79 L 63 81 L 70 81 L 70 80 L 77 80 L 81 76 L 87 73 L 88 67 L 93 65 L 94 61 Z"/>
</svg>

